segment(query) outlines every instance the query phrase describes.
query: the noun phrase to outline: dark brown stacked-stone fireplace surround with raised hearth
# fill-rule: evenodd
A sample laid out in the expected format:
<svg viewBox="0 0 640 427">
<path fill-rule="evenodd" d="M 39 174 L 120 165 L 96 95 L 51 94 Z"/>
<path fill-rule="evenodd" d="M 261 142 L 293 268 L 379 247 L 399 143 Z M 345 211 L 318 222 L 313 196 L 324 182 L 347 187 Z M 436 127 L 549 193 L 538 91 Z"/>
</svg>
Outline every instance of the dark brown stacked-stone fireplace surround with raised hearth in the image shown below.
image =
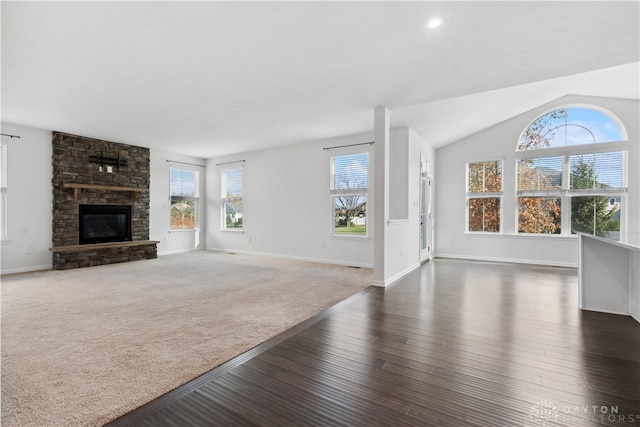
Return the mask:
<svg viewBox="0 0 640 427">
<path fill-rule="evenodd" d="M 136 187 L 149 190 L 150 152 L 148 148 L 53 132 L 53 267 L 76 268 L 155 258 L 155 243 L 150 247 L 92 249 L 76 253 L 56 251 L 56 248 L 79 244 L 78 205 L 131 205 L 133 241 L 149 240 L 149 192 L 83 189 L 76 201 L 73 188 L 64 184 L 98 184 L 115 187 Z M 113 173 L 99 170 L 89 156 L 120 158 L 127 166 L 113 166 Z M 135 199 L 135 200 L 134 200 Z M 97 251 L 97 252 L 95 252 Z"/>
</svg>

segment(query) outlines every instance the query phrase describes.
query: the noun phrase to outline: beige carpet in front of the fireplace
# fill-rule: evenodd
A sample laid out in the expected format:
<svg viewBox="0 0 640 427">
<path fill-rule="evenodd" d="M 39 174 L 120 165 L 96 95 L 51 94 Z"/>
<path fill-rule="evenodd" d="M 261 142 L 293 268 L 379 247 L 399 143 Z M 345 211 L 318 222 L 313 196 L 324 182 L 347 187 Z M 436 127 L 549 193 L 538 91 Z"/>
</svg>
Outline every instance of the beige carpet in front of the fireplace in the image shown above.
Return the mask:
<svg viewBox="0 0 640 427">
<path fill-rule="evenodd" d="M 367 287 L 210 251 L 2 278 L 2 426 L 97 426 Z"/>
</svg>

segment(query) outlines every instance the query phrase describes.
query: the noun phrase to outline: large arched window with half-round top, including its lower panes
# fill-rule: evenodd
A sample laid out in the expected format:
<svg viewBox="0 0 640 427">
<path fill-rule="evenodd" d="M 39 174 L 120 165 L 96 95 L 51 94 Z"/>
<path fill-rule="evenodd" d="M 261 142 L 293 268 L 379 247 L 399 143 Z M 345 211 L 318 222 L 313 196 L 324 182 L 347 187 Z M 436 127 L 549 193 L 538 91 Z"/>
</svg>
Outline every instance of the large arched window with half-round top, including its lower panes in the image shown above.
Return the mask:
<svg viewBox="0 0 640 427">
<path fill-rule="evenodd" d="M 531 122 L 516 147 L 518 232 L 619 240 L 624 140 L 622 124 L 597 108 L 559 108 Z"/>
</svg>

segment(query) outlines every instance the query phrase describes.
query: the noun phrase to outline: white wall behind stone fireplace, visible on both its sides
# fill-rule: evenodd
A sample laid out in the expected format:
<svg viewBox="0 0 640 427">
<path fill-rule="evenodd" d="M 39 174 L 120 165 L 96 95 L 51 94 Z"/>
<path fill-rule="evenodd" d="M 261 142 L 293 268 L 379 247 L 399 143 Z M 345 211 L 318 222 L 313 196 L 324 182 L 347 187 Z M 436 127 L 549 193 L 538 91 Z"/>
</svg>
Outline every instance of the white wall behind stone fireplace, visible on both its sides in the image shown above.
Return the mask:
<svg viewBox="0 0 640 427">
<path fill-rule="evenodd" d="M 2 274 L 51 268 L 53 195 L 51 187 L 51 131 L 2 123 L 2 133 L 20 135 L 7 142 L 8 240 L 0 245 Z M 91 135 L 83 135 L 91 137 Z M 126 144 L 126 141 L 114 141 Z M 203 159 L 151 150 L 149 238 L 159 240 L 158 254 L 204 247 L 205 205 L 201 203 L 200 232 L 169 231 L 169 164 L 166 160 L 204 164 Z M 204 169 L 201 190 L 204 195 Z M 25 254 L 24 249 L 29 248 Z"/>
</svg>

